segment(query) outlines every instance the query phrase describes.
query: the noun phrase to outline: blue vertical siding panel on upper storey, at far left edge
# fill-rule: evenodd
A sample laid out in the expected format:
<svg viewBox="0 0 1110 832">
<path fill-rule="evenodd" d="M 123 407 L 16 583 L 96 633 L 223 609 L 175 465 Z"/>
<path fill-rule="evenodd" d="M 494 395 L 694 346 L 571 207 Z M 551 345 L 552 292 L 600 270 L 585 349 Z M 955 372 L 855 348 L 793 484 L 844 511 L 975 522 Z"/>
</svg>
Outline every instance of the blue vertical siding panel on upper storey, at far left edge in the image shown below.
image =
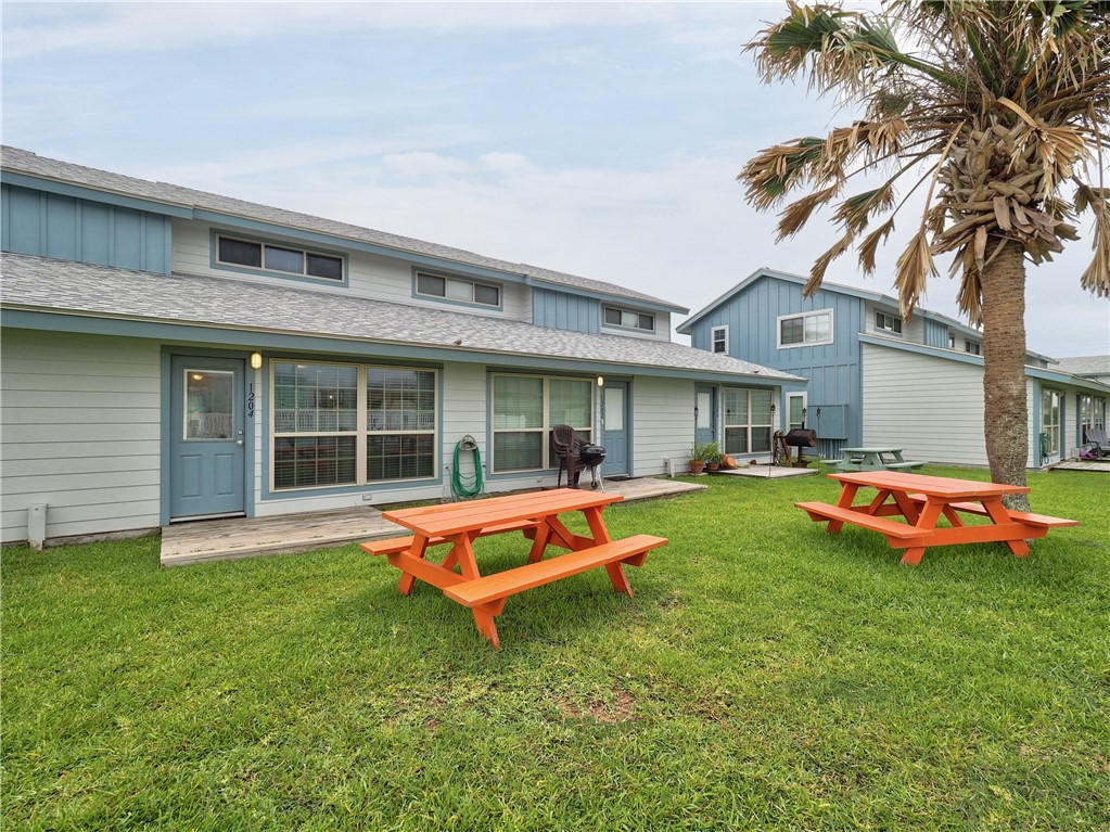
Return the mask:
<svg viewBox="0 0 1110 832">
<path fill-rule="evenodd" d="M 6 252 L 169 274 L 169 216 L 3 185 Z"/>
</svg>

